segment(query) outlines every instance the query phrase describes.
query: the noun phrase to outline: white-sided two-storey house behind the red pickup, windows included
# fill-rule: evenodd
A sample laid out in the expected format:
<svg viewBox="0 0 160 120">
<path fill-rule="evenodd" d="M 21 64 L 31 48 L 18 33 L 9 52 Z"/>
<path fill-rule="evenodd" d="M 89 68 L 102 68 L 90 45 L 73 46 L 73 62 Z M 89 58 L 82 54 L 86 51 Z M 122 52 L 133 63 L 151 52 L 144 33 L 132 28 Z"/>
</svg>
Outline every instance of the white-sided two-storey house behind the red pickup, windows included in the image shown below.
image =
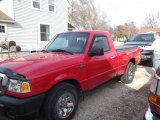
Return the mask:
<svg viewBox="0 0 160 120">
<path fill-rule="evenodd" d="M 0 1 L 0 40 L 13 40 L 22 50 L 41 50 L 55 34 L 65 31 L 65 0 Z"/>
</svg>

